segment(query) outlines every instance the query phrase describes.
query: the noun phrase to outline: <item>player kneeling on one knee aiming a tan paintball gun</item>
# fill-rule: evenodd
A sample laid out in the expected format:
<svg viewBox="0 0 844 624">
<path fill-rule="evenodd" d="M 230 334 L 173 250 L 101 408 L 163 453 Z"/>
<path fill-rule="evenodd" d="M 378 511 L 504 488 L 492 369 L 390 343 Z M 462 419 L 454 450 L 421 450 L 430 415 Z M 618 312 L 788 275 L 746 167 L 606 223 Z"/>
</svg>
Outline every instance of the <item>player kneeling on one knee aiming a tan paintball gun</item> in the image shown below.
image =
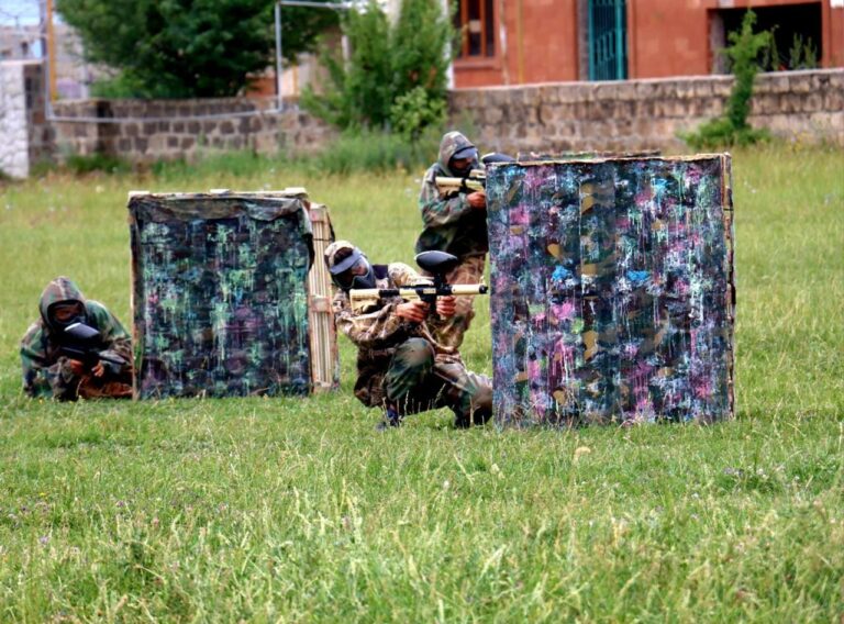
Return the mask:
<svg viewBox="0 0 844 624">
<path fill-rule="evenodd" d="M 337 287 L 333 309 L 337 327 L 357 346 L 355 397 L 369 408 L 381 408 L 379 428 L 399 426 L 404 415 L 451 408 L 455 426 L 485 423 L 492 411 L 489 378 L 466 370 L 454 347 L 437 343 L 434 320 L 423 301 L 400 297 L 379 299 L 363 309 L 352 308 L 351 289 L 401 288 L 423 278 L 408 265 L 370 265 L 347 241 L 325 249 L 325 264 Z M 436 299 L 436 312 L 446 321 L 455 313 L 455 299 Z"/>
</svg>

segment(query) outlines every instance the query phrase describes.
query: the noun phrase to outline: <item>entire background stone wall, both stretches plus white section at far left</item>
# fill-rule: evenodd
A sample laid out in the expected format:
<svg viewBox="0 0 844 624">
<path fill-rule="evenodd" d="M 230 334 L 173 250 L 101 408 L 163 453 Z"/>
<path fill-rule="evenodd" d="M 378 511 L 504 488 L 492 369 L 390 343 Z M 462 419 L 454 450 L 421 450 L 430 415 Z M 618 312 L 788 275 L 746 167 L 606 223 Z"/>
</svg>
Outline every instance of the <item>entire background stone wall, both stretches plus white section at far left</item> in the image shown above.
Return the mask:
<svg viewBox="0 0 844 624">
<path fill-rule="evenodd" d="M 677 138 L 724 111 L 733 79 L 701 76 L 624 82 L 558 82 L 458 89 L 454 125 L 484 148 L 517 152 L 662 149 L 688 152 Z M 32 164 L 106 153 L 135 163 L 195 158 L 209 151 L 312 152 L 336 132 L 271 99 L 79 100 L 44 111 L 35 62 L 0 63 L 0 169 L 25 177 Z M 804 142 L 844 146 L 844 69 L 763 74 L 751 123 Z"/>
</svg>

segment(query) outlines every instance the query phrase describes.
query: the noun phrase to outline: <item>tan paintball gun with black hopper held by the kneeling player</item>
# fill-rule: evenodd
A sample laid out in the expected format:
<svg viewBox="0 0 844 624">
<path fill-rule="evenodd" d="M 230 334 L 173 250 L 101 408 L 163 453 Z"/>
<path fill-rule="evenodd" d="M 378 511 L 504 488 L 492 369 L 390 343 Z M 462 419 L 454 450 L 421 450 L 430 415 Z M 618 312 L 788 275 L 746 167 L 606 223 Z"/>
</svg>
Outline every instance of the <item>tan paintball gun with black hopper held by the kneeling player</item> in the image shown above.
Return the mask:
<svg viewBox="0 0 844 624">
<path fill-rule="evenodd" d="M 348 291 L 352 309 L 365 310 L 376 304 L 380 299 L 388 297 L 401 297 L 406 301 L 422 300 L 427 303 L 432 312 L 436 311 L 436 298 L 460 294 L 486 294 L 489 290 L 485 283 L 455 283 L 449 285 L 445 274 L 459 264 L 456 256 L 445 252 L 422 252 L 417 255 L 417 264 L 434 276 L 433 281 L 401 288 L 362 288 Z"/>
</svg>

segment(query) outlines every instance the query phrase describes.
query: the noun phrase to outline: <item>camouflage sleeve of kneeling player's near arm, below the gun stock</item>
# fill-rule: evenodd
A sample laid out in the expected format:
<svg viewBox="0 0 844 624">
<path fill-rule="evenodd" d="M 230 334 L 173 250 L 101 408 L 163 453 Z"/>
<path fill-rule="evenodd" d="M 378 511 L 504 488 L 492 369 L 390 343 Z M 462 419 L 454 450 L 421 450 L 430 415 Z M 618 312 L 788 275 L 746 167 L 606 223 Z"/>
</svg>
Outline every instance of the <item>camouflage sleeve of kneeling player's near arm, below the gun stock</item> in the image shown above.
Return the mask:
<svg viewBox="0 0 844 624">
<path fill-rule="evenodd" d="M 397 302 L 373 305 L 363 313 L 355 313 L 348 296 L 340 291 L 334 297 L 334 321 L 356 346 L 363 348 L 385 348 L 407 338 L 406 324 L 396 315 Z"/>
</svg>

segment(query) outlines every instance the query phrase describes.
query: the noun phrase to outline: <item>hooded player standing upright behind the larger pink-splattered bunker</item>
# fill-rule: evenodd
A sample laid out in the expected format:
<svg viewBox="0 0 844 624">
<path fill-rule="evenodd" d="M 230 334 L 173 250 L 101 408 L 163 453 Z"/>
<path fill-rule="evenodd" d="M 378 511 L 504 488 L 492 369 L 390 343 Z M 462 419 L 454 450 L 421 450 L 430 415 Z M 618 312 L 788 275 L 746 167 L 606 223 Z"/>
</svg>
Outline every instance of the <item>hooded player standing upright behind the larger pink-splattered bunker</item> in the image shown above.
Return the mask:
<svg viewBox="0 0 844 624">
<path fill-rule="evenodd" d="M 424 226 L 417 239 L 417 253 L 438 249 L 457 256 L 460 264 L 446 275 L 448 283 L 477 283 L 484 277 L 489 250 L 487 197 L 484 191 L 442 192 L 436 178 L 463 178 L 478 166 L 475 145 L 459 132 L 452 131 L 440 142 L 440 159 L 429 167 L 422 180 L 419 208 Z M 443 345 L 459 347 L 474 316 L 473 298 L 458 297 L 454 315 L 437 327 L 436 339 Z"/>
</svg>

